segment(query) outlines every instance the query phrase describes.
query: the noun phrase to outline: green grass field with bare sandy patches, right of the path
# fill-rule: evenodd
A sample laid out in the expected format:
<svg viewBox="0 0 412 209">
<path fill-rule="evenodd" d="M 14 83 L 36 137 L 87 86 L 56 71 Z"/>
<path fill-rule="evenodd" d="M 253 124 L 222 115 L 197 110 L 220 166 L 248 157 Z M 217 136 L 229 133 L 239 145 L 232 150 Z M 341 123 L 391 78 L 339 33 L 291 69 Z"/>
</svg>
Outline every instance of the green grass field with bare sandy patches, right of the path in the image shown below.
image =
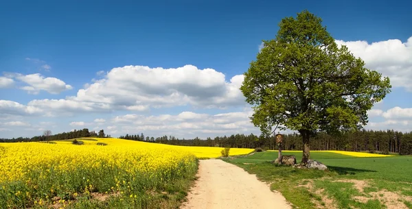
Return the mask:
<svg viewBox="0 0 412 209">
<path fill-rule="evenodd" d="M 283 152 L 301 160 L 301 152 Z M 328 171 L 277 167 L 276 151 L 226 159 L 281 192 L 295 208 L 411 208 L 412 156 L 357 158 L 312 152 Z"/>
</svg>

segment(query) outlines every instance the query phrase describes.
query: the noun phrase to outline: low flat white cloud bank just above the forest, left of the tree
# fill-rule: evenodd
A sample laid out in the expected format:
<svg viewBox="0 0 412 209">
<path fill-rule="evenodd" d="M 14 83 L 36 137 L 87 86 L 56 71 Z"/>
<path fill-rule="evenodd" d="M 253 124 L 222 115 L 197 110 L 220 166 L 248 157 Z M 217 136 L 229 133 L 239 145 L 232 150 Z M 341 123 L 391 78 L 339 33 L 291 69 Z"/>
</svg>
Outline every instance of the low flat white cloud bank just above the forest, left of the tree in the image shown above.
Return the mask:
<svg viewBox="0 0 412 209">
<path fill-rule="evenodd" d="M 225 114 L 198 114 L 181 112 L 180 114 L 161 114 L 144 116 L 125 114 L 115 116 L 112 123 L 122 133 L 144 132 L 150 136 L 172 134 L 173 136 L 216 136 L 216 134 L 257 134 L 258 128 L 250 123 L 251 111 L 229 112 Z"/>
</svg>

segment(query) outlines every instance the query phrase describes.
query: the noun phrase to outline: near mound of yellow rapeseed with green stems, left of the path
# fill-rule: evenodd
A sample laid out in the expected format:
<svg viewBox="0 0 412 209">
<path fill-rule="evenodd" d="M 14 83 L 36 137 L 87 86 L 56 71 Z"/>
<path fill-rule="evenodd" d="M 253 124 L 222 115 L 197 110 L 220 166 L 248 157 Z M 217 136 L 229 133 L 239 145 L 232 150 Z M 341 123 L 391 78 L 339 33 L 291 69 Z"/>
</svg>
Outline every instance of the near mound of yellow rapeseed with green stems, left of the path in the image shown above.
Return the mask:
<svg viewBox="0 0 412 209">
<path fill-rule="evenodd" d="M 196 172 L 196 156 L 185 149 L 115 138 L 82 142 L 1 144 L 0 208 L 53 204 L 53 197 L 70 200 L 93 192 L 143 201 L 144 190 Z"/>
</svg>

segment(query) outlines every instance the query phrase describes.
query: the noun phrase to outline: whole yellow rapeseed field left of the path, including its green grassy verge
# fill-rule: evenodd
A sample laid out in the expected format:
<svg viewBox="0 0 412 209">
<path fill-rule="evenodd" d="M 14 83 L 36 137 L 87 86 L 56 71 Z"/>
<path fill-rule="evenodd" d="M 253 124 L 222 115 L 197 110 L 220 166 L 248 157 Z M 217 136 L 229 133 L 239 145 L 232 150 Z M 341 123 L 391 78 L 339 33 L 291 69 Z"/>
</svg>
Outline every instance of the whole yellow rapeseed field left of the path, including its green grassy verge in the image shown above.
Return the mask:
<svg viewBox="0 0 412 209">
<path fill-rule="evenodd" d="M 2 143 L 0 208 L 176 208 L 198 158 L 221 150 L 119 138 Z"/>
</svg>

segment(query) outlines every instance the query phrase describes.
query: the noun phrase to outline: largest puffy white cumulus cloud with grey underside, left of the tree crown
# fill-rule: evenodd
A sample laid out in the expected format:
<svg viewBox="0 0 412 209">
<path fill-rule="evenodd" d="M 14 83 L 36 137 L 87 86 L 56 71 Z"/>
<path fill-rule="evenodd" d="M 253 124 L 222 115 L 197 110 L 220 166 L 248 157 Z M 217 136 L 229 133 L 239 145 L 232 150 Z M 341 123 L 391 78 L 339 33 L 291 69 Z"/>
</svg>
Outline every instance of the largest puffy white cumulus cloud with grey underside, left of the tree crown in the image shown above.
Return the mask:
<svg viewBox="0 0 412 209">
<path fill-rule="evenodd" d="M 232 77 L 214 69 L 185 65 L 176 69 L 124 66 L 112 69 L 104 79 L 80 89 L 75 101 L 100 101 L 126 110 L 146 110 L 148 106 L 183 106 L 206 108 L 244 105 L 239 90 L 243 75 Z"/>
</svg>

